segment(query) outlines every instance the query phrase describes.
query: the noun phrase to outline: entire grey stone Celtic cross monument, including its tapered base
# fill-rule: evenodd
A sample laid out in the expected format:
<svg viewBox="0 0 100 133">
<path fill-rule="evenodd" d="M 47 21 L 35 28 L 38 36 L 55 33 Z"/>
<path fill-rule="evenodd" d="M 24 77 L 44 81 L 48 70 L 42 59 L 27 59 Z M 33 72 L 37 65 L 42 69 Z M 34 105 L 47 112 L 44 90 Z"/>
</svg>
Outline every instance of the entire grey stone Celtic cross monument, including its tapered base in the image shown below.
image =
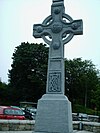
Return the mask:
<svg viewBox="0 0 100 133">
<path fill-rule="evenodd" d="M 64 0 L 53 0 L 51 15 L 33 26 L 33 36 L 50 45 L 46 94 L 37 106 L 37 133 L 73 132 L 71 103 L 64 96 L 64 44 L 74 35 L 81 35 L 82 26 L 82 20 L 73 20 L 65 14 Z"/>
</svg>

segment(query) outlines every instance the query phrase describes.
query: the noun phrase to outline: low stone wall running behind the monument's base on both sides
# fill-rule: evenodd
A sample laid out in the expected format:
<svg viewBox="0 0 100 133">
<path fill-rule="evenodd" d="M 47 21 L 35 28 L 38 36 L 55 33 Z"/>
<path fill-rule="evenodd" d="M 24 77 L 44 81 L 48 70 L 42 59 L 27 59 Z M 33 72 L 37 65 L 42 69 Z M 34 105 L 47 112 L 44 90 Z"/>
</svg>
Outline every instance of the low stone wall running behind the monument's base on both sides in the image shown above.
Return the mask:
<svg viewBox="0 0 100 133">
<path fill-rule="evenodd" d="M 0 131 L 30 131 L 34 125 L 34 120 L 0 120 Z M 100 133 L 100 123 L 73 121 L 73 129 Z"/>
</svg>

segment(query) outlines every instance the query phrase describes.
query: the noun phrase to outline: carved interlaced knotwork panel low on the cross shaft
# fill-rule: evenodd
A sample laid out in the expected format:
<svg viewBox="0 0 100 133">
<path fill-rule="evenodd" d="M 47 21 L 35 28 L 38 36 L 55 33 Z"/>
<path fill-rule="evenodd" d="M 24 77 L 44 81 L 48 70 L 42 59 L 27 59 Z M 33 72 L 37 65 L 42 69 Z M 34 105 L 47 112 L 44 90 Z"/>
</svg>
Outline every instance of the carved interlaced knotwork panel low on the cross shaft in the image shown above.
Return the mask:
<svg viewBox="0 0 100 133">
<path fill-rule="evenodd" d="M 49 73 L 48 92 L 61 92 L 61 73 Z"/>
</svg>

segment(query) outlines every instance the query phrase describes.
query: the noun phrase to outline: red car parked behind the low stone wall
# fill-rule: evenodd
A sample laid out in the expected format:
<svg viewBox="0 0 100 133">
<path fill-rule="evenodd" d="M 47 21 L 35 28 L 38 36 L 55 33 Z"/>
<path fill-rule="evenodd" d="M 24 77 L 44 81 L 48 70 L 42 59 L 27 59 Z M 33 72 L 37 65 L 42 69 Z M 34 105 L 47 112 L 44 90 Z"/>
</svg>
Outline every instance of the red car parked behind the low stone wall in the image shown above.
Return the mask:
<svg viewBox="0 0 100 133">
<path fill-rule="evenodd" d="M 20 108 L 14 108 L 10 106 L 0 106 L 0 119 L 25 120 L 25 116 Z"/>
</svg>

